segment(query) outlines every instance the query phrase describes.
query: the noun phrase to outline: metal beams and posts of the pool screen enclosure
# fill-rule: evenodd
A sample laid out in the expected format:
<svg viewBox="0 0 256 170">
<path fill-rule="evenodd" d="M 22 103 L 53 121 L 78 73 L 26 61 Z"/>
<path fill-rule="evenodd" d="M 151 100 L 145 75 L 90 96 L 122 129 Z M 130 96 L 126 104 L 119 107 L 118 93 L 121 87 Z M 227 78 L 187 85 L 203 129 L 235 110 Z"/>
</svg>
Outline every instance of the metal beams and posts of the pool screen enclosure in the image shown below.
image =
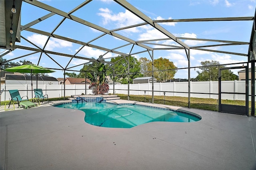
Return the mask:
<svg viewBox="0 0 256 170">
<path fill-rule="evenodd" d="M 249 56 L 250 56 L 250 51 L 252 51 L 252 48 L 248 47 L 248 53 L 236 53 L 236 52 L 230 52 L 230 51 L 218 51 L 218 50 L 206 49 L 206 47 L 220 47 L 220 46 L 223 46 L 223 45 L 226 45 L 226 46 L 228 46 L 228 45 L 248 45 L 248 46 L 252 46 L 252 43 L 253 43 L 252 41 L 255 39 L 255 29 L 252 29 L 250 42 L 236 42 L 236 41 L 229 41 L 229 40 L 210 40 L 210 39 L 199 39 L 199 38 L 176 37 L 171 32 L 168 32 L 166 29 L 164 29 L 162 26 L 160 26 L 158 23 L 164 23 L 164 22 L 166 22 L 166 23 L 167 22 L 220 22 L 220 21 L 254 21 L 255 22 L 255 15 L 254 16 L 248 16 L 248 17 L 152 20 L 151 18 L 149 18 L 148 16 L 143 14 L 140 10 L 138 10 L 137 8 L 132 6 L 129 2 L 127 2 L 125 0 L 114 0 L 114 1 L 117 4 L 119 4 L 120 6 L 122 6 L 123 8 L 125 8 L 126 10 L 132 12 L 132 14 L 136 15 L 138 18 L 142 19 L 144 22 L 142 22 L 140 24 L 136 24 L 136 25 L 126 26 L 126 27 L 123 27 L 123 28 L 117 28 L 117 29 L 114 29 L 114 30 L 107 30 L 106 28 L 102 28 L 102 27 L 100 27 L 96 24 L 93 24 L 91 22 L 88 22 L 86 20 L 83 20 L 81 18 L 78 18 L 78 17 L 72 15 L 74 12 L 76 12 L 77 10 L 82 8 L 83 6 L 86 6 L 87 4 L 90 4 L 90 2 L 92 2 L 92 0 L 85 0 L 82 4 L 76 6 L 76 8 L 74 8 L 70 12 L 64 12 L 62 10 L 59 10 L 57 8 L 54 8 L 52 6 L 44 4 L 43 2 L 40 2 L 40 1 L 37 1 L 37 0 L 19 1 L 20 4 L 19 5 L 17 4 L 17 6 L 20 6 L 20 8 L 22 8 L 23 3 L 28 3 L 30 5 L 33 5 L 33 6 L 37 7 L 37 8 L 42 8 L 44 10 L 47 10 L 49 13 L 46 14 L 45 16 L 42 16 L 42 17 L 38 18 L 37 20 L 34 20 L 30 23 L 27 23 L 24 26 L 19 25 L 20 15 L 14 16 L 14 20 L 16 21 L 15 29 L 17 30 L 16 33 L 15 33 L 16 37 L 19 37 L 19 35 L 22 31 L 27 31 L 27 32 L 32 32 L 32 33 L 48 36 L 48 40 L 44 44 L 44 47 L 40 48 L 36 44 L 27 40 L 25 37 L 20 36 L 20 38 L 22 38 L 22 40 L 27 41 L 28 43 L 30 43 L 34 47 L 24 47 L 24 46 L 21 46 L 21 45 L 16 45 L 15 42 L 19 41 L 18 39 L 16 39 L 15 41 L 13 41 L 14 45 L 12 47 L 8 47 L 8 45 L 1 46 L 2 49 L 7 49 L 7 51 L 5 53 L 1 53 L 0 57 L 4 57 L 6 54 L 8 54 L 9 52 L 11 52 L 15 49 L 24 49 L 24 50 L 31 51 L 31 53 L 29 53 L 27 55 L 22 55 L 22 56 L 19 56 L 19 57 L 13 57 L 12 59 L 7 60 L 6 62 L 13 61 L 15 59 L 22 59 L 22 57 L 25 57 L 25 56 L 28 56 L 28 55 L 33 55 L 35 53 L 40 53 L 40 58 L 38 59 L 38 63 L 37 63 L 37 65 L 39 65 L 42 54 L 45 54 L 52 60 L 52 62 L 54 62 L 58 66 L 60 66 L 60 68 L 48 68 L 48 69 L 63 70 L 64 73 L 66 73 L 66 71 L 79 71 L 79 70 L 76 70 L 74 67 L 77 67 L 77 66 L 80 66 L 80 65 L 83 65 L 83 64 L 86 64 L 86 63 L 96 62 L 96 61 L 106 63 L 108 65 L 114 65 L 115 63 L 112 63 L 110 61 L 105 61 L 103 59 L 103 56 L 106 55 L 107 53 L 114 53 L 117 56 L 123 56 L 123 58 L 126 59 L 126 57 L 128 57 L 129 55 L 135 55 L 135 54 L 138 54 L 138 53 L 144 53 L 145 51 L 148 51 L 148 55 L 150 56 L 150 58 L 152 60 L 152 79 L 153 79 L 154 78 L 154 63 L 153 63 L 153 61 L 154 61 L 154 51 L 156 51 L 156 50 L 167 50 L 167 49 L 170 49 L 170 50 L 184 49 L 184 51 L 186 53 L 186 57 L 188 59 L 188 107 L 189 108 L 190 108 L 190 69 L 194 68 L 194 67 L 190 67 L 190 49 L 201 50 L 201 51 L 210 51 L 210 52 L 216 52 L 216 53 L 226 53 L 226 54 L 239 55 L 239 56 L 247 56 L 248 57 L 247 65 L 249 65 L 249 63 L 250 63 L 249 62 Z M 7 11 L 9 10 L 8 8 L 10 8 L 10 5 L 12 4 L 12 1 L 3 0 L 3 2 L 8 4 L 8 5 L 5 6 L 5 11 L 6 11 L 6 15 L 9 15 Z M 3 6 L 1 6 L 1 7 L 3 7 Z M 20 10 L 18 12 L 20 12 Z M 45 31 L 42 31 L 42 30 L 37 30 L 37 29 L 31 28 L 35 24 L 37 24 L 39 22 L 42 22 L 43 20 L 46 20 L 47 18 L 50 18 L 50 17 L 55 16 L 55 15 L 61 16 L 63 18 L 56 25 L 56 27 L 52 30 L 52 32 L 45 32 Z M 4 30 L 3 27 L 5 27 L 5 28 L 9 27 L 9 26 L 7 26 L 7 24 L 10 21 L 8 19 L 4 18 L 4 17 L 5 16 L 0 16 L 0 19 L 5 20 L 6 25 L 5 26 L 1 25 L 0 30 Z M 72 20 L 74 22 L 77 22 L 78 24 L 82 24 L 84 26 L 88 26 L 90 28 L 99 30 L 99 31 L 103 32 L 103 34 L 98 36 L 98 37 L 95 37 L 94 39 L 92 39 L 88 42 L 82 42 L 82 41 L 79 41 L 79 40 L 75 40 L 75 39 L 72 39 L 72 38 L 67 38 L 67 37 L 55 34 L 56 30 L 62 25 L 64 20 Z M 128 29 L 128 28 L 136 28 L 138 26 L 145 26 L 145 25 L 149 25 L 152 28 L 155 28 L 160 33 L 166 35 L 168 38 L 136 41 L 136 40 L 130 39 L 128 36 L 122 36 L 122 35 L 116 33 L 117 31 L 120 31 L 120 30 L 125 30 L 125 29 Z M 254 26 L 255 26 L 255 23 L 252 26 L 252 28 L 254 28 Z M 18 28 L 20 28 L 20 30 Z M 6 30 L 6 35 L 8 35 L 8 30 Z M 102 46 L 97 46 L 97 45 L 92 44 L 92 42 L 94 42 L 95 40 L 99 40 L 100 38 L 104 37 L 105 35 L 114 36 L 116 38 L 119 38 L 121 40 L 126 41 L 127 43 L 125 45 L 114 47 L 112 49 L 108 49 L 108 48 L 105 48 L 105 47 L 102 47 Z M 83 57 L 83 56 L 78 55 L 79 51 L 76 51 L 76 53 L 74 53 L 73 55 L 66 54 L 66 53 L 59 53 L 59 52 L 56 52 L 56 51 L 49 51 L 49 50 L 46 50 L 45 47 L 48 44 L 50 38 L 57 38 L 59 40 L 64 40 L 64 41 L 67 41 L 67 42 L 72 42 L 72 43 L 82 45 L 80 50 L 83 47 L 87 46 L 87 47 L 92 47 L 92 48 L 95 48 L 95 49 L 100 49 L 100 50 L 106 51 L 106 53 L 103 56 L 98 57 L 97 59 L 92 59 L 92 58 Z M 10 39 L 7 38 L 7 36 L 6 36 L 5 39 L 2 39 L 2 40 L 6 40 L 5 43 L 7 44 Z M 166 45 L 166 44 L 162 44 L 162 43 L 152 43 L 153 41 L 160 42 L 161 40 L 173 40 L 178 45 Z M 196 40 L 196 41 L 216 42 L 216 44 L 200 45 L 200 46 L 189 46 L 186 43 L 184 43 L 182 40 Z M 132 45 L 129 53 L 120 52 L 120 49 L 122 47 L 128 46 L 128 45 Z M 163 48 L 152 48 L 152 47 L 150 47 L 150 45 L 161 45 L 161 46 L 163 46 Z M 134 46 L 141 47 L 143 50 L 139 51 L 139 52 L 136 52 L 136 53 L 133 53 L 132 50 L 133 50 Z M 69 57 L 70 60 L 65 66 L 63 66 L 63 65 L 60 65 L 53 57 L 51 57 L 51 55 L 58 55 L 60 57 Z M 80 64 L 80 65 L 70 66 L 70 62 L 73 59 L 83 59 L 85 62 Z M 128 73 L 127 73 L 127 75 L 128 75 L 128 78 L 129 78 L 129 76 L 130 76 L 129 57 L 128 57 L 128 60 L 126 60 L 126 61 L 128 63 Z M 5 63 L 0 63 L 0 64 L 4 65 Z M 113 69 L 113 74 L 115 75 L 115 70 L 114 69 Z M 64 78 L 65 78 L 65 74 L 64 74 Z M 254 75 L 254 82 L 255 82 L 255 75 Z M 130 94 L 129 84 L 130 84 L 130 82 L 128 82 L 128 99 L 129 99 L 129 94 Z M 255 83 L 252 86 L 255 86 Z M 64 89 L 65 89 L 65 86 L 64 86 Z M 113 89 L 115 89 L 115 88 L 113 88 Z M 254 100 L 254 101 L 252 101 L 252 103 L 253 103 L 253 102 L 255 102 L 255 92 L 254 92 L 254 94 L 252 94 L 252 96 L 253 96 L 252 100 Z M 65 92 L 64 92 L 64 97 L 65 97 Z M 152 103 L 154 103 L 154 83 L 152 83 Z"/>
</svg>

